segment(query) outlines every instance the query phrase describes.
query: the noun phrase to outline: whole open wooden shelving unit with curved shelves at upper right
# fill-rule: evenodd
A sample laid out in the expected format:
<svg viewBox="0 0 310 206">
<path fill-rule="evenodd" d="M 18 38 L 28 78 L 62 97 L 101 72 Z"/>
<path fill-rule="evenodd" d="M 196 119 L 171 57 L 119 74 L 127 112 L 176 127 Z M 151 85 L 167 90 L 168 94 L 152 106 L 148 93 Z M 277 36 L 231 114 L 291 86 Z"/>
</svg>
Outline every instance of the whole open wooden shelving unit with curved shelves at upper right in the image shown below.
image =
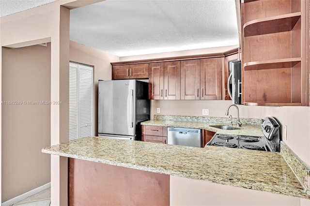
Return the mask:
<svg viewBox="0 0 310 206">
<path fill-rule="evenodd" d="M 242 12 L 245 105 L 309 104 L 305 26 L 302 26 L 305 7 L 303 0 L 245 0 Z"/>
</svg>

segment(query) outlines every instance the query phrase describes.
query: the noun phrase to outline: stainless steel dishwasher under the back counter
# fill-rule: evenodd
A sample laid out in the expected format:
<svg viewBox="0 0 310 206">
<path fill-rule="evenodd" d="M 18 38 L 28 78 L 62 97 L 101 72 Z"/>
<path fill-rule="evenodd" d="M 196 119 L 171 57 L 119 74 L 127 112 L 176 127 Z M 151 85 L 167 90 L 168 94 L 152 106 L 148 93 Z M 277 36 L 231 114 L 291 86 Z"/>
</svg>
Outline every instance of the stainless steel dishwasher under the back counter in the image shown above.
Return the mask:
<svg viewBox="0 0 310 206">
<path fill-rule="evenodd" d="M 168 127 L 168 144 L 190 147 L 202 147 L 202 133 L 200 129 Z"/>
</svg>

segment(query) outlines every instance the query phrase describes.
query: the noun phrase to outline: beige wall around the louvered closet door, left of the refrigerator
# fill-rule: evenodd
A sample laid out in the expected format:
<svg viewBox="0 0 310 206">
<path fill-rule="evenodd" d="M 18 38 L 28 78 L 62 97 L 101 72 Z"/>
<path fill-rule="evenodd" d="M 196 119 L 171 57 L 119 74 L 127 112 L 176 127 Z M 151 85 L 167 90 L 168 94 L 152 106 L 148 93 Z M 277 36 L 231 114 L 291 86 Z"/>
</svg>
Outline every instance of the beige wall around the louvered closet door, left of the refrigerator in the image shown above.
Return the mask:
<svg viewBox="0 0 310 206">
<path fill-rule="evenodd" d="M 112 78 L 112 65 L 110 62 L 119 61 L 119 57 L 70 41 L 70 61 L 93 66 L 93 122 L 94 135 L 97 135 L 98 80 L 110 80 Z"/>
</svg>

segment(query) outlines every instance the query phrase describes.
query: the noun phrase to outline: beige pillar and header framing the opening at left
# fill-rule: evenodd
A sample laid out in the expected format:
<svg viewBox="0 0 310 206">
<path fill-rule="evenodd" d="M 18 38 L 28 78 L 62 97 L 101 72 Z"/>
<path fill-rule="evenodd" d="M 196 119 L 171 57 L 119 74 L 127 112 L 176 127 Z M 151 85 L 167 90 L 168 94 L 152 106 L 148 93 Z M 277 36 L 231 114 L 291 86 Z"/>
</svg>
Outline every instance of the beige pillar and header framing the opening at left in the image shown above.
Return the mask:
<svg viewBox="0 0 310 206">
<path fill-rule="evenodd" d="M 68 8 L 85 6 L 97 1 L 101 0 L 58 0 L 0 18 L 1 46 L 22 47 L 51 41 L 50 99 L 62 101 L 62 104 L 50 106 L 49 145 L 59 144 L 69 139 L 70 11 Z M 63 4 L 68 8 L 62 7 Z M 19 154 L 23 155 L 22 152 Z M 53 168 L 51 205 L 65 206 L 67 204 L 67 158 L 51 155 L 51 168 Z M 1 198 L 0 202 L 3 202 Z"/>
</svg>

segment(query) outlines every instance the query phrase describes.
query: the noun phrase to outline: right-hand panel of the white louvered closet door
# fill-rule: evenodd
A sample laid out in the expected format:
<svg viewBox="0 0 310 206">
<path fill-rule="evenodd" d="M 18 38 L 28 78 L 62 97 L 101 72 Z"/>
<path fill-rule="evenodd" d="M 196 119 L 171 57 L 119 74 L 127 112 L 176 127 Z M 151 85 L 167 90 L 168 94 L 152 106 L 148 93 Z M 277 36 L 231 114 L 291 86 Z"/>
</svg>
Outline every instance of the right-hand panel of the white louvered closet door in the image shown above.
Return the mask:
<svg viewBox="0 0 310 206">
<path fill-rule="evenodd" d="M 93 135 L 93 67 L 79 65 L 79 137 Z"/>
</svg>

